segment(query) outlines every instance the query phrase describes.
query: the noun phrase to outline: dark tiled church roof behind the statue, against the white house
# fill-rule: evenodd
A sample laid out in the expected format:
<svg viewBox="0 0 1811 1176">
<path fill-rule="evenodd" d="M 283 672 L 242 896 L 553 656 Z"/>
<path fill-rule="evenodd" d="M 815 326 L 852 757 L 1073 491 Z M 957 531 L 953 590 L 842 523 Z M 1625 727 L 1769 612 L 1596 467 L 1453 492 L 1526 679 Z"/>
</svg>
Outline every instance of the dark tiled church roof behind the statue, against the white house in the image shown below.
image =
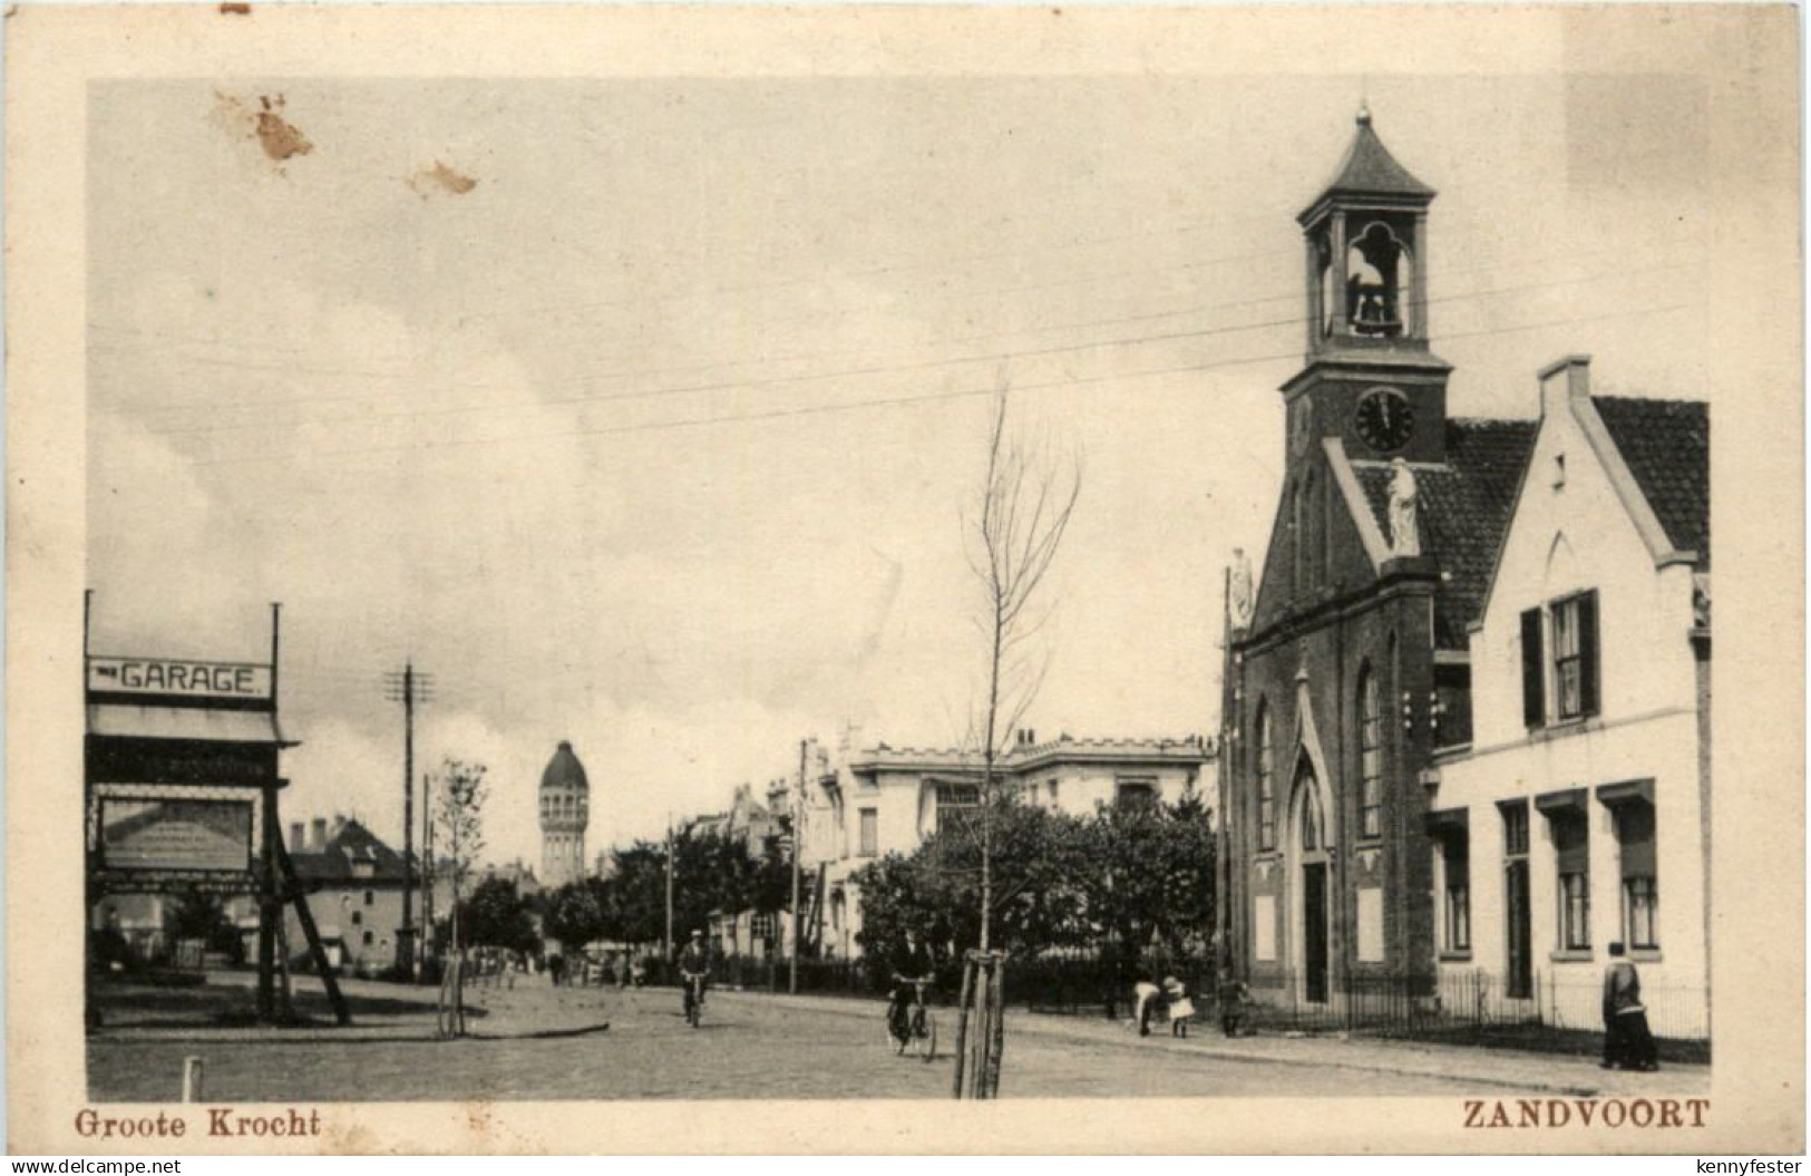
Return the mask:
<svg viewBox="0 0 1811 1176">
<path fill-rule="evenodd" d="M 1422 551 L 1440 562 L 1434 647 L 1467 651 L 1496 553 L 1509 529 L 1521 473 L 1534 448 L 1536 420 L 1447 420 L 1447 462 L 1414 469 Z M 1389 466 L 1353 462 L 1376 525 L 1389 535 Z"/>
</svg>

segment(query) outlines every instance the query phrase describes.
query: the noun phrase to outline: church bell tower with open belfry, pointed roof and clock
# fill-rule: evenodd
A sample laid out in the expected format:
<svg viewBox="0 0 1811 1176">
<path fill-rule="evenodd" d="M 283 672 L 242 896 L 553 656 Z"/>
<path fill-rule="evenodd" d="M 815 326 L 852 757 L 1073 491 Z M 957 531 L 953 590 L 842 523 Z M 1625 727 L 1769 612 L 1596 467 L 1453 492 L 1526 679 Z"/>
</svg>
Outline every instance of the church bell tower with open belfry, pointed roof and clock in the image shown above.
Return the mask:
<svg viewBox="0 0 1811 1176">
<path fill-rule="evenodd" d="M 1289 455 L 1338 437 L 1353 460 L 1442 462 L 1447 373 L 1429 352 L 1427 208 L 1358 107 L 1333 181 L 1297 216 L 1306 248 L 1308 357 L 1282 386 Z"/>
</svg>

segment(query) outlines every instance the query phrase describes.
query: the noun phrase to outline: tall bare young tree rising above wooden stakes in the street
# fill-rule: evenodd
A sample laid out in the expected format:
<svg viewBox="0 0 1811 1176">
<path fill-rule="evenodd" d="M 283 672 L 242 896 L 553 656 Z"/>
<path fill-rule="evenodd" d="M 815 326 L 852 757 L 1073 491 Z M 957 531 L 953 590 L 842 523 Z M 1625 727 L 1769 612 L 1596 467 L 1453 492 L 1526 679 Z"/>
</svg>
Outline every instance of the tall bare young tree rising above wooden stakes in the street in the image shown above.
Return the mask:
<svg viewBox="0 0 1811 1176">
<path fill-rule="evenodd" d="M 996 766 L 1009 732 L 1018 728 L 1050 669 L 1049 652 L 1038 656 L 1032 647 L 1050 611 L 1032 605 L 1041 603 L 1040 587 L 1081 496 L 1079 457 L 1029 440 L 1011 426 L 1009 406 L 1011 382 L 1001 371 L 987 437 L 982 509 L 969 549 L 969 567 L 983 589 L 976 623 L 987 645 L 987 692 L 974 721 L 982 754 L 982 951 L 989 949 L 992 931 Z"/>
</svg>

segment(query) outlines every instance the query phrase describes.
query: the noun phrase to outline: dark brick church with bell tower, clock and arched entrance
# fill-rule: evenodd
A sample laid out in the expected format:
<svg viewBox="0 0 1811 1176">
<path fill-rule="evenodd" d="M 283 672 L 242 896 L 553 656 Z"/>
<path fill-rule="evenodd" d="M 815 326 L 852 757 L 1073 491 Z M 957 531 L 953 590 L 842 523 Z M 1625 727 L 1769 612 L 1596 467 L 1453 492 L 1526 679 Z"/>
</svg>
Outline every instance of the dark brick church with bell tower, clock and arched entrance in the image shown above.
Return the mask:
<svg viewBox="0 0 1811 1176">
<path fill-rule="evenodd" d="M 1306 364 L 1282 500 L 1230 587 L 1221 942 L 1253 997 L 1433 991 L 1423 774 L 1471 739 L 1478 618 L 1532 420 L 1447 413 L 1429 348 L 1434 190 L 1367 111 L 1304 234 Z"/>
</svg>

